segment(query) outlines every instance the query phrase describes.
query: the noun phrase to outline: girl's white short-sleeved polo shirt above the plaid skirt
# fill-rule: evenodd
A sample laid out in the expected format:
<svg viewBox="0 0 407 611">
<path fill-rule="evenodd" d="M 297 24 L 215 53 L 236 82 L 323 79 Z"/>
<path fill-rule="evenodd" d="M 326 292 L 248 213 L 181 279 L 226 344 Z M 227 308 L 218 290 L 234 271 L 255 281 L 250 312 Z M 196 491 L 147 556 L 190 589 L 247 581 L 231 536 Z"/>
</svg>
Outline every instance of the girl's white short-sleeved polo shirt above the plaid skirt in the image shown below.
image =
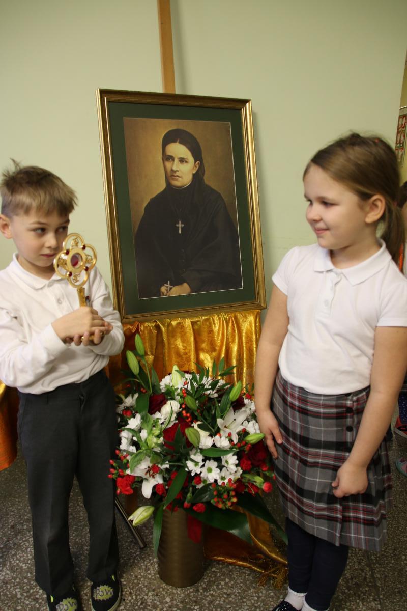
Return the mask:
<svg viewBox="0 0 407 611">
<path fill-rule="evenodd" d="M 281 374 L 309 392 L 339 394 L 370 384 L 375 329 L 407 327 L 407 279 L 380 251 L 337 269 L 318 244 L 287 252 L 273 276 L 287 295 Z"/>
</svg>

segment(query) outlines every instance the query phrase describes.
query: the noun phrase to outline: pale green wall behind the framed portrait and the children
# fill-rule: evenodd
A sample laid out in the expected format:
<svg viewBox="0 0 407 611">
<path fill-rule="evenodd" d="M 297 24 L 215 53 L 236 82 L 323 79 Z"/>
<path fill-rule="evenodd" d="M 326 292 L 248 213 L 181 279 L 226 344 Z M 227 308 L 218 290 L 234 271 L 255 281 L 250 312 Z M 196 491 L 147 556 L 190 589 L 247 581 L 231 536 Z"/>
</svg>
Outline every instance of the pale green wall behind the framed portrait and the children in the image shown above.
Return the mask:
<svg viewBox="0 0 407 611">
<path fill-rule="evenodd" d="M 172 0 L 171 10 L 177 92 L 252 100 L 268 293 L 284 252 L 314 241 L 309 156 L 349 129 L 394 142 L 405 0 Z M 9 2 L 0 53 L 0 166 L 10 156 L 49 166 L 76 189 L 72 227 L 109 280 L 94 92 L 161 91 L 156 1 Z M 0 267 L 11 252 L 3 241 Z"/>
</svg>

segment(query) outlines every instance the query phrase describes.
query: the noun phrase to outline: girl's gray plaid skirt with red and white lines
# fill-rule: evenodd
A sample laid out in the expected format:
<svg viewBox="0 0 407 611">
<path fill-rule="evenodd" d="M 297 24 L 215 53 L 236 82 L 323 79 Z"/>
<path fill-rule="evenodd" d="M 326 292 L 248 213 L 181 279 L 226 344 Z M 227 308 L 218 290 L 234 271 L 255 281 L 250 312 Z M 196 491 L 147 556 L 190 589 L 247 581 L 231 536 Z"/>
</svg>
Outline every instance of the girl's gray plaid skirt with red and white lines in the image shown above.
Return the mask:
<svg viewBox="0 0 407 611">
<path fill-rule="evenodd" d="M 337 499 L 331 486 L 355 441 L 369 390 L 318 395 L 278 372 L 272 411 L 283 444 L 276 444 L 275 474 L 284 512 L 295 524 L 335 545 L 379 551 L 392 505 L 386 441 L 370 461 L 364 494 Z"/>
</svg>

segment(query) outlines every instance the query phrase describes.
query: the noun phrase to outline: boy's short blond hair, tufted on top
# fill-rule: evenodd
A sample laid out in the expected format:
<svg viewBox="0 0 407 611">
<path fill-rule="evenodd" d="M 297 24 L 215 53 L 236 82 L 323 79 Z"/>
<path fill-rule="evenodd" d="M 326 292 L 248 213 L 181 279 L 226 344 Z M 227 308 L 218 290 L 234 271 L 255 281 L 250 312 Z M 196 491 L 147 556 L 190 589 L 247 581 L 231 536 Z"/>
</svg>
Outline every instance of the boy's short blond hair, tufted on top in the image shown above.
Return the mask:
<svg viewBox="0 0 407 611">
<path fill-rule="evenodd" d="M 77 204 L 73 189 L 43 167 L 22 167 L 12 161 L 14 167 L 4 170 L 0 182 L 2 214 L 12 218 L 35 210 L 69 216 Z"/>
</svg>

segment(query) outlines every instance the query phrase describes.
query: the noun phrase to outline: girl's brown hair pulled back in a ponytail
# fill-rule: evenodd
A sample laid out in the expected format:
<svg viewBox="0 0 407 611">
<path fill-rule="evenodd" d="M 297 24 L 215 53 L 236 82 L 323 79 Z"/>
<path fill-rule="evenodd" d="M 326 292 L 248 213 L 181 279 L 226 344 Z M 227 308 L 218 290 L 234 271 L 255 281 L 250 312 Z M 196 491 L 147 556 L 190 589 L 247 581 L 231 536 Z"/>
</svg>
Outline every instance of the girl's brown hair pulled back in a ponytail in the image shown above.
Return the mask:
<svg viewBox="0 0 407 611">
<path fill-rule="evenodd" d="M 351 133 L 315 153 L 304 176 L 311 164 L 319 166 L 362 200 L 376 194 L 384 197 L 386 208 L 380 219 L 380 237 L 398 263 L 405 243 L 405 229 L 397 207 L 400 174 L 392 147 L 378 136 Z"/>
</svg>

